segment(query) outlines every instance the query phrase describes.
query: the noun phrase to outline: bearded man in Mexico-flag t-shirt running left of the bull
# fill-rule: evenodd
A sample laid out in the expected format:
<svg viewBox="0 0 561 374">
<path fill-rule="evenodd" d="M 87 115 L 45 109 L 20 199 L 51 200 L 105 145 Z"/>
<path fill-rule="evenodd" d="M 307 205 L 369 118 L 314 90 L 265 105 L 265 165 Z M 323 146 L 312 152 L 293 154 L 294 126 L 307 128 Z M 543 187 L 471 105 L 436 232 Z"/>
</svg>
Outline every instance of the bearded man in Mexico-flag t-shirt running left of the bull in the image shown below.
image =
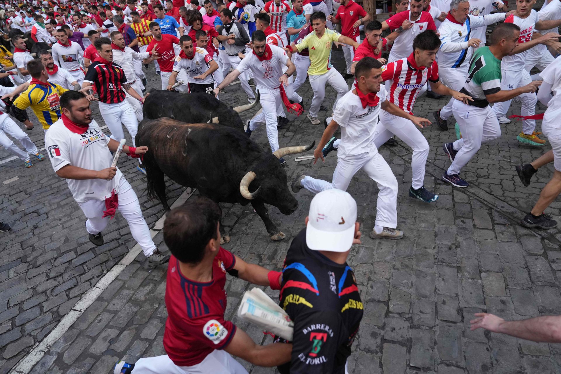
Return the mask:
<svg viewBox="0 0 561 374">
<path fill-rule="evenodd" d="M 86 230 L 96 246 L 103 244 L 102 231 L 118 210 L 127 220 L 132 237 L 142 247 L 148 266 L 154 267 L 169 260 L 158 250 L 140 209 L 139 201 L 121 170 L 112 167 L 119 142 L 106 136 L 91 118 L 86 95 L 66 91 L 61 96 L 62 117 L 50 126 L 45 135 L 54 172 L 66 178 L 74 200 L 86 216 Z M 148 147 L 123 148 L 131 156 L 142 155 Z"/>
</svg>

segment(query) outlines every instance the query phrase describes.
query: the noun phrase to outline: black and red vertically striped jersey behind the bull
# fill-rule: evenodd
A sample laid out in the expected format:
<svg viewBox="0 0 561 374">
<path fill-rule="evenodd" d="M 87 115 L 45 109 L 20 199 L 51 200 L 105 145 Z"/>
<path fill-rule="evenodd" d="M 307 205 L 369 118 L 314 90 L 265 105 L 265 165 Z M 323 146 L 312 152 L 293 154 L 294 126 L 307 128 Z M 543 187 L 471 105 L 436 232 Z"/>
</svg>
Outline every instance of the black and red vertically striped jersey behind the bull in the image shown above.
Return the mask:
<svg viewBox="0 0 561 374">
<path fill-rule="evenodd" d="M 116 63 L 106 64 L 94 60 L 88 67 L 84 82 L 94 85 L 99 101 L 107 104 L 121 103 L 125 100 L 122 85 L 128 83 L 123 68 Z"/>
</svg>

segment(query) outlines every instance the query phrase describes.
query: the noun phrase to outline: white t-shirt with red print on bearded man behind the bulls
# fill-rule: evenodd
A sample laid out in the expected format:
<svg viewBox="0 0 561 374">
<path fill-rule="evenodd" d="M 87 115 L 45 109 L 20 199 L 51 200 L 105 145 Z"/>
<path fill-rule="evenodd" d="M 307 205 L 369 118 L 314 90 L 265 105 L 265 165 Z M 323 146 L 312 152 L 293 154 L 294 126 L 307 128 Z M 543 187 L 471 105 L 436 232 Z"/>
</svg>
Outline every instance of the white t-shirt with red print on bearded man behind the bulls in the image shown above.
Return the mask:
<svg viewBox="0 0 561 374">
<path fill-rule="evenodd" d="M 273 54 L 271 59 L 259 61 L 257 55 L 251 52 L 242 59 L 236 69 L 242 73 L 251 69 L 257 88 L 276 89 L 280 86 L 279 78 L 283 75 L 283 66 L 286 65 L 288 56 L 284 49 L 268 45 Z"/>
</svg>

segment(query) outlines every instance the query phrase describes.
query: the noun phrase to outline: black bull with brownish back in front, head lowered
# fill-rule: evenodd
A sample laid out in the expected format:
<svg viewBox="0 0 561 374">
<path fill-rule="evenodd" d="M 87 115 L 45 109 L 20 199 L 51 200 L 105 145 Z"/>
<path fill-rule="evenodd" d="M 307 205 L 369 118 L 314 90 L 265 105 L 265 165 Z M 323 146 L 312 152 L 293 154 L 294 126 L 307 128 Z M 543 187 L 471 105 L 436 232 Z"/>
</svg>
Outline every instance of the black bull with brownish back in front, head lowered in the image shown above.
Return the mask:
<svg viewBox="0 0 561 374">
<path fill-rule="evenodd" d="M 264 204 L 292 214 L 298 201 L 288 190 L 287 176 L 278 158 L 311 149 L 314 143 L 285 147 L 274 154 L 242 133 L 213 123 L 183 123 L 171 118 L 144 119 L 136 135 L 144 155 L 148 197 L 158 198 L 165 210 L 164 175 L 216 202 L 251 203 L 272 240 L 284 239 L 270 220 Z M 250 192 L 251 191 L 251 192 Z M 220 225 L 222 231 L 222 225 Z M 225 236 L 224 241 L 229 241 Z"/>
</svg>

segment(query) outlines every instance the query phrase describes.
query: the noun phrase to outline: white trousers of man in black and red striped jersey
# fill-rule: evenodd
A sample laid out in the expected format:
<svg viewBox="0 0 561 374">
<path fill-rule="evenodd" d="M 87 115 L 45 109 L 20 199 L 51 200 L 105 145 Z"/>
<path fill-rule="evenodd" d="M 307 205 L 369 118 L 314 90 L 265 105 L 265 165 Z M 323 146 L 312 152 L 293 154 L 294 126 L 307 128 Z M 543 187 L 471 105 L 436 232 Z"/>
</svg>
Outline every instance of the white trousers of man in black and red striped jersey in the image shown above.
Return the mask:
<svg viewBox="0 0 561 374">
<path fill-rule="evenodd" d="M 102 113 L 103 121 L 111 131 L 111 138 L 121 141 L 125 138 L 125 132 L 121 123 L 125 125 L 132 138 L 132 146 L 135 146 L 135 136 L 139 130 L 139 121 L 136 119 L 135 110 L 127 100 L 121 103 L 107 104 L 99 101 L 99 112 Z"/>
</svg>

